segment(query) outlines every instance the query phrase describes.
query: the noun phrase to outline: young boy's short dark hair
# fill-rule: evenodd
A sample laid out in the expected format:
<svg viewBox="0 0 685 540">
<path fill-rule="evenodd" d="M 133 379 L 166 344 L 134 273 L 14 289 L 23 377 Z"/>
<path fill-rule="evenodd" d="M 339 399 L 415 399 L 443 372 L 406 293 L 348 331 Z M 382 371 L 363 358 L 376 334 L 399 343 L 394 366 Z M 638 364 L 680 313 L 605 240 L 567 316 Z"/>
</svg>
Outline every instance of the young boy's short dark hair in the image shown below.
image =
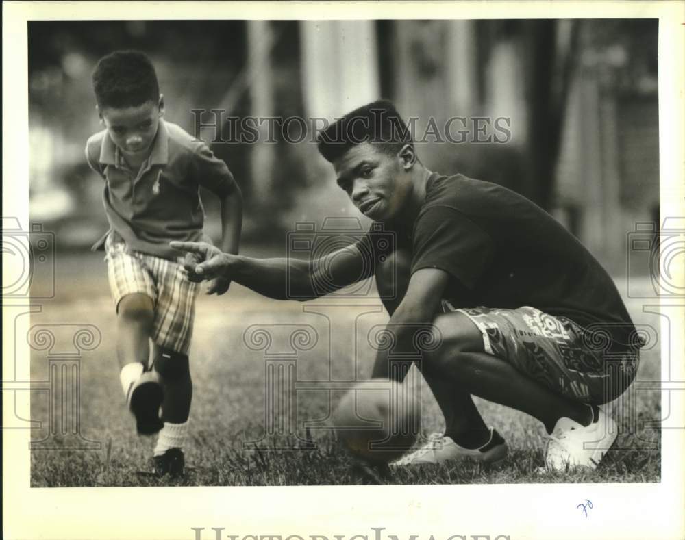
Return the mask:
<svg viewBox="0 0 685 540">
<path fill-rule="evenodd" d="M 101 109 L 137 107 L 160 99 L 155 67 L 138 51 L 114 51 L 102 57 L 92 72 L 92 86 Z"/>
</svg>

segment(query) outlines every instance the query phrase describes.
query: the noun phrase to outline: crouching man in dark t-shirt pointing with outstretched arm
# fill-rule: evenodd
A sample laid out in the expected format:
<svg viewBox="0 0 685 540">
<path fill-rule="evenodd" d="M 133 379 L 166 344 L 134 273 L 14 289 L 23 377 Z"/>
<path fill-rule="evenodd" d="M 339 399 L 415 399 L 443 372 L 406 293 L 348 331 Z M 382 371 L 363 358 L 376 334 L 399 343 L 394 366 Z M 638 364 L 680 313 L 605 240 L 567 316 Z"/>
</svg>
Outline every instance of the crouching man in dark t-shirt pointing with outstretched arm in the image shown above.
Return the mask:
<svg viewBox="0 0 685 540">
<path fill-rule="evenodd" d="M 445 434 L 395 465 L 503 458 L 506 442 L 484 423 L 476 395 L 543 422 L 551 469 L 597 467 L 616 437 L 599 405 L 632 383 L 640 344 L 612 279 L 588 250 L 519 194 L 427 170 L 387 101 L 328 127 L 319 151 L 362 214 L 395 233 L 394 253 L 381 253 L 371 233 L 312 264 L 174 242 L 203 260 L 186 265 L 190 279 L 221 276 L 271 298 L 290 291 L 302 299 L 320 296 L 321 284 L 329 292 L 373 272 L 394 352 L 413 352 L 417 327 L 440 339 L 420 368 L 445 415 Z M 364 265 L 369 253 L 372 264 Z M 390 365 L 388 350 L 377 353 L 374 378 L 405 373 Z"/>
</svg>

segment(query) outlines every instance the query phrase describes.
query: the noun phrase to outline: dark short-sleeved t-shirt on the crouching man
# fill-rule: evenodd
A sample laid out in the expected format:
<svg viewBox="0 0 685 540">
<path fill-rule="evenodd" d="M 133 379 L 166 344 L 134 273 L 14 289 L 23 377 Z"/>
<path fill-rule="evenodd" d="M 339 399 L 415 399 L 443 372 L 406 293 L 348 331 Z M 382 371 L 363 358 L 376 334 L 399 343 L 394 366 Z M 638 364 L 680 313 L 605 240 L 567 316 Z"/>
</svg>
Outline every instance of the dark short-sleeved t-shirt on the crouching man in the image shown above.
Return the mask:
<svg viewBox="0 0 685 540">
<path fill-rule="evenodd" d="M 440 268 L 451 276 L 445 298 L 455 307 L 531 306 L 606 329 L 612 349 L 634 342 L 630 316 L 597 259 L 547 212 L 507 188 L 433 173 L 404 241 L 412 273 Z"/>
</svg>

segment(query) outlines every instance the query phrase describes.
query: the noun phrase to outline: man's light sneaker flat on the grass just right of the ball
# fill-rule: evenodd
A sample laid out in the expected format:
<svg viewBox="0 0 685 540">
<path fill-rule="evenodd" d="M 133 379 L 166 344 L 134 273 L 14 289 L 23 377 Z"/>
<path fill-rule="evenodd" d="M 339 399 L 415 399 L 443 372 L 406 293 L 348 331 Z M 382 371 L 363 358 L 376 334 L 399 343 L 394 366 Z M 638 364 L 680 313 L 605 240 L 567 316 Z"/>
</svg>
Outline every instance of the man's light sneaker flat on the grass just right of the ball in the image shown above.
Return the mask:
<svg viewBox="0 0 685 540">
<path fill-rule="evenodd" d="M 397 461 L 393 461 L 393 463 L 390 463 L 390 467 L 444 463 L 445 461 L 457 459 L 472 459 L 482 463 L 493 463 L 506 457 L 507 451 L 506 441 L 494 428 L 490 428 L 490 440 L 483 446 L 473 450 L 459 446 L 451 437 L 445 437 L 442 433 L 434 433 L 419 450 Z"/>
</svg>

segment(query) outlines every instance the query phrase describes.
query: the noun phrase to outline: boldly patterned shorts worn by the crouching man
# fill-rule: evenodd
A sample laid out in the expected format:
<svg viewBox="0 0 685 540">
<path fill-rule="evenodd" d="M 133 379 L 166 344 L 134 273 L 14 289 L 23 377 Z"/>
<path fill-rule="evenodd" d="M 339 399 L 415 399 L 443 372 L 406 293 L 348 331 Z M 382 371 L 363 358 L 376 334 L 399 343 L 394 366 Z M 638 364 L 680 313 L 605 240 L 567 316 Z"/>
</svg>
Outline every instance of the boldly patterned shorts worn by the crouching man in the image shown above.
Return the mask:
<svg viewBox="0 0 685 540">
<path fill-rule="evenodd" d="M 490 355 L 574 400 L 610 402 L 623 394 L 637 373 L 637 349 L 607 354 L 606 346 L 565 317 L 534 307 L 455 309 L 447 300 L 443 310 L 471 319 Z"/>
</svg>

